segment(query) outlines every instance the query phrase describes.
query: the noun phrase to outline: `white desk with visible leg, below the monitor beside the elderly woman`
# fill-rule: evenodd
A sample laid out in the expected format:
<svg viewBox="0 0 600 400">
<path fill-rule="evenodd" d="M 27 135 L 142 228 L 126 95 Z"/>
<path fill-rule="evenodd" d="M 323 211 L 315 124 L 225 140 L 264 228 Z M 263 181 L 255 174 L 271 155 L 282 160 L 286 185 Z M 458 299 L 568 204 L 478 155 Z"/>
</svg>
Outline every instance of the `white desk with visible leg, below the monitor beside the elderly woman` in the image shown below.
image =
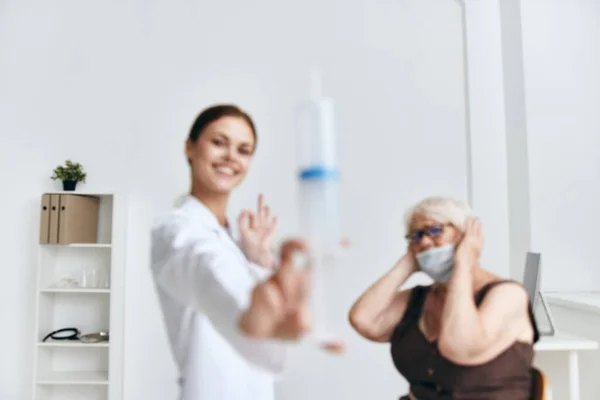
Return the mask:
<svg viewBox="0 0 600 400">
<path fill-rule="evenodd" d="M 598 342 L 567 332 L 542 336 L 534 346 L 535 351 L 565 351 L 569 356 L 569 400 L 579 398 L 579 352 L 598 349 Z"/>
</svg>

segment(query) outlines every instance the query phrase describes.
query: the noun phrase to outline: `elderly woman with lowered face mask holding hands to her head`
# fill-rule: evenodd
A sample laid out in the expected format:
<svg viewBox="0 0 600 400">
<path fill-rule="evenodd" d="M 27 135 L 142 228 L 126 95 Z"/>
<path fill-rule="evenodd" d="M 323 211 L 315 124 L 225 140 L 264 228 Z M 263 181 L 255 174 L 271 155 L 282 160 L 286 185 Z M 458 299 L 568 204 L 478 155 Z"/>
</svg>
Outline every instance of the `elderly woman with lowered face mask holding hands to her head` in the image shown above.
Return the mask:
<svg viewBox="0 0 600 400">
<path fill-rule="evenodd" d="M 428 198 L 406 215 L 408 251 L 356 301 L 350 323 L 390 342 L 409 382 L 402 399 L 531 398 L 538 331 L 526 290 L 479 264 L 480 223 L 470 208 Z M 398 289 L 414 272 L 435 282 Z"/>
</svg>

